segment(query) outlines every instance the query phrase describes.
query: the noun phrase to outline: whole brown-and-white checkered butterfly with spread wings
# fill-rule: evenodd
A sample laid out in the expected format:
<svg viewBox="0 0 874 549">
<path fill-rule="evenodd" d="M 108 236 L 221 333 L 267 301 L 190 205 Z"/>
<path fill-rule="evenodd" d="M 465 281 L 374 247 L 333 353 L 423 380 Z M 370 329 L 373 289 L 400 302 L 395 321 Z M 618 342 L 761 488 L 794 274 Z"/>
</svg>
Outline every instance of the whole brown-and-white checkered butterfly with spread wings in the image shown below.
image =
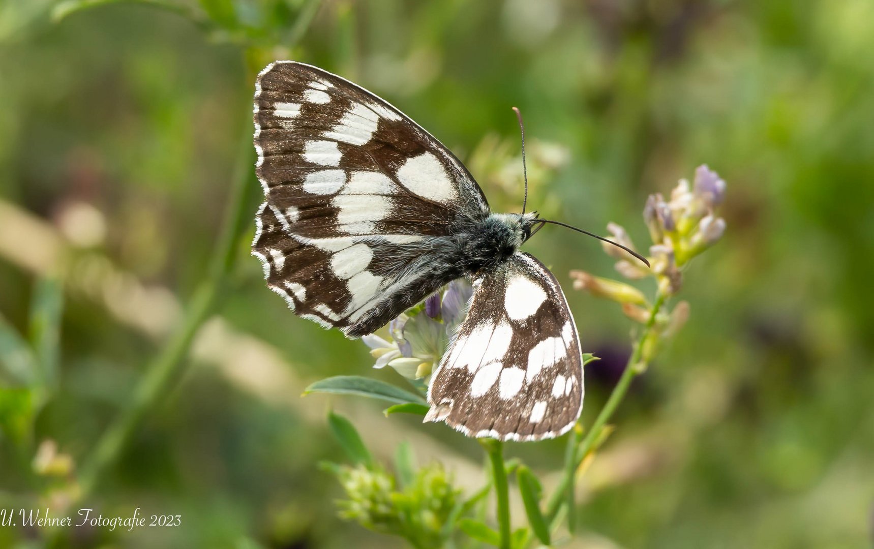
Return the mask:
<svg viewBox="0 0 874 549">
<path fill-rule="evenodd" d="M 537 212 L 491 212 L 434 136 L 335 74 L 276 61 L 255 87 L 265 200 L 252 254 L 268 288 L 297 315 L 361 337 L 468 277 L 468 316 L 425 420 L 502 441 L 570 429 L 583 406 L 579 335 L 555 276 L 519 251 L 545 222 Z"/>
</svg>

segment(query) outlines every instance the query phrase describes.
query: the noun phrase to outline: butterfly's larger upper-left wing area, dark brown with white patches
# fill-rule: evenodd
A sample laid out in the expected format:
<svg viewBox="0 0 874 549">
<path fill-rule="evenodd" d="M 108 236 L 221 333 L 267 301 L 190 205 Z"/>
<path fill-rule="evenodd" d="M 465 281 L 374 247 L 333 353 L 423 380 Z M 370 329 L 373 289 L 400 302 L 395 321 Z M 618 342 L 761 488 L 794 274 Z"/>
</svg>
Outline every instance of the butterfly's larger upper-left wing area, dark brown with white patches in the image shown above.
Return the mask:
<svg viewBox="0 0 874 549">
<path fill-rule="evenodd" d="M 277 61 L 254 101 L 260 206 L 253 254 L 289 307 L 347 335 L 433 292 L 435 239 L 489 212 L 440 142 L 396 108 L 314 66 Z"/>
</svg>

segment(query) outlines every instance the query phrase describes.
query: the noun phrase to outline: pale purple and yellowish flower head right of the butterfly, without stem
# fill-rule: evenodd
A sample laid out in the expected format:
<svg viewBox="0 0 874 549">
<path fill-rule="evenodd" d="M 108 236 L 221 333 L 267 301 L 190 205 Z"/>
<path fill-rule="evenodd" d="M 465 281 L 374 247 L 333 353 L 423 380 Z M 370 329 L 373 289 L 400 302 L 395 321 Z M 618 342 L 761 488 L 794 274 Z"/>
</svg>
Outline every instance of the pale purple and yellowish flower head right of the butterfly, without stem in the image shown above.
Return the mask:
<svg viewBox="0 0 874 549">
<path fill-rule="evenodd" d="M 675 295 L 683 284 L 683 266 L 697 254 L 713 246 L 725 233 L 725 219 L 716 211 L 725 198 L 725 181 L 706 165 L 698 166 L 690 184 L 681 179 L 666 201 L 662 193 L 649 195 L 643 209 L 643 220 L 649 229 L 652 245 L 649 247 L 651 268 L 642 265 L 620 247 L 603 243 L 607 255 L 619 260 L 616 271 L 629 280 L 655 276 L 658 295 L 662 299 Z M 636 251 L 635 244 L 624 227 L 607 224 L 613 240 Z M 653 312 L 643 293 L 625 282 L 600 278 L 583 271 L 572 271 L 573 287 L 592 295 L 604 297 L 622 305 L 622 311 L 636 322 L 647 324 L 655 314 L 654 327 L 643 342 L 644 362 L 655 353 L 656 343 L 662 337 L 676 333 L 689 318 L 689 304 L 679 302 L 672 311 Z"/>
</svg>

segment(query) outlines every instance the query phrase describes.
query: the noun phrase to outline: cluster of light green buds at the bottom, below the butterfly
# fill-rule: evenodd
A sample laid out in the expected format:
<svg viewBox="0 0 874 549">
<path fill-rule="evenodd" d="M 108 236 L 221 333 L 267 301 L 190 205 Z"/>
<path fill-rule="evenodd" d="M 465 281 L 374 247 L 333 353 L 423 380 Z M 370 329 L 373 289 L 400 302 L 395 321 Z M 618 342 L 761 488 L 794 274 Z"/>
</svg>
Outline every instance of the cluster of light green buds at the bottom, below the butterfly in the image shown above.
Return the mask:
<svg viewBox="0 0 874 549">
<path fill-rule="evenodd" d="M 415 547 L 441 547 L 443 525 L 461 498 L 439 463 L 417 469 L 403 487 L 378 466 L 336 466 L 348 499 L 338 502 L 340 516 L 374 530 L 399 535 Z"/>
</svg>

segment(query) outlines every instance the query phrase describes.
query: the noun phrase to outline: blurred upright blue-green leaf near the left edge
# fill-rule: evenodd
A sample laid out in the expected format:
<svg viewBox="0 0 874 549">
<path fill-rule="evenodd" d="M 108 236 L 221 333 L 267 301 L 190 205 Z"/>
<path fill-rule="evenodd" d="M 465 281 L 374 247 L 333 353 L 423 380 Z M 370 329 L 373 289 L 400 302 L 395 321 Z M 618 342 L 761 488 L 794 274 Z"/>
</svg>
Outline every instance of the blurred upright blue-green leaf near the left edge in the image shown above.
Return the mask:
<svg viewBox="0 0 874 549">
<path fill-rule="evenodd" d="M 57 382 L 63 302 L 59 281 L 44 278 L 37 282 L 31 302 L 30 337 L 42 378 L 40 381 L 46 387 Z"/>
</svg>

